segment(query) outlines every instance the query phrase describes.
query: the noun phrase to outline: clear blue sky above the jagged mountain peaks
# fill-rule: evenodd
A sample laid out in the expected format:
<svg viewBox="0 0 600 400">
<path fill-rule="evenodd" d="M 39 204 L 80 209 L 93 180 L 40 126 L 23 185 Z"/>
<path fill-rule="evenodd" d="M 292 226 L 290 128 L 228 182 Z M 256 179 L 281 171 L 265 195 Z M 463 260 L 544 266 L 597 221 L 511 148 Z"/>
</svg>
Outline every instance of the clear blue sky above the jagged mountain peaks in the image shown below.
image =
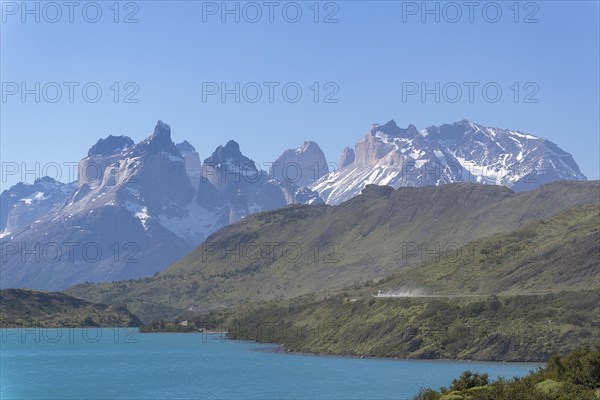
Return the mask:
<svg viewBox="0 0 600 400">
<path fill-rule="evenodd" d="M 233 15 L 225 15 L 223 23 L 221 10 L 208 14 L 221 2 L 122 2 L 119 23 L 113 21 L 113 2 L 99 3 L 102 16 L 97 23 L 83 18 L 87 2 L 74 10 L 73 23 L 65 7 L 56 23 L 47 21 L 55 18 L 56 10 L 40 9 L 37 23 L 35 15 L 14 9 L 15 4 L 21 7 L 20 1 L 2 3 L 3 163 L 24 162 L 33 168 L 36 162 L 76 162 L 109 134 L 125 134 L 136 142 L 143 139 L 158 119 L 171 125 L 175 141 L 190 141 L 201 158 L 235 139 L 247 156 L 263 163 L 286 148 L 314 140 L 328 160 L 336 162 L 341 150 L 353 146 L 373 122 L 395 119 L 401 126 L 412 123 L 421 129 L 466 118 L 550 139 L 573 154 L 588 178 L 599 177 L 597 1 L 522 2 L 518 16 L 514 2 L 498 2 L 502 15 L 496 23 L 489 22 L 495 18 L 493 7 L 486 8 L 485 15 L 482 10 L 488 2 L 478 3 L 474 22 L 469 22 L 469 9 L 461 7 L 455 23 L 450 20 L 456 10 L 447 3 L 439 3 L 439 22 L 429 14 L 422 22 L 422 10 L 412 14 L 420 1 L 321 2 L 319 23 L 314 22 L 312 1 L 298 3 L 302 16 L 297 23 L 285 19 L 294 18 L 289 2 L 279 2 L 272 23 L 262 1 L 254 3 L 262 11 L 256 23 L 246 21 L 255 17 L 256 10 L 243 9 L 243 3 L 239 23 Z M 236 3 L 227 4 L 234 8 Z M 95 9 L 86 10 L 92 20 Z M 137 23 L 123 23 L 130 13 Z M 323 23 L 332 13 L 330 18 L 338 22 Z M 524 23 L 526 19 L 538 22 Z M 27 95 L 25 102 L 20 93 L 10 95 L 11 82 L 25 82 L 30 88 L 35 82 L 80 85 L 72 103 L 64 85 L 56 103 L 47 101 L 42 89 L 40 103 L 35 103 L 34 95 Z M 85 101 L 81 93 L 88 82 L 96 82 L 103 91 L 96 103 Z M 113 82 L 121 86 L 117 103 L 114 87 L 110 89 Z M 138 103 L 123 102 L 135 87 L 124 88 L 126 82 L 139 88 L 133 96 Z M 203 82 L 226 82 L 229 87 L 235 82 L 242 86 L 280 82 L 280 86 L 272 103 L 265 86 L 257 103 L 244 98 L 235 103 L 233 95 L 225 103 L 219 96 L 203 102 Z M 287 82 L 297 82 L 303 90 L 297 103 L 282 97 L 281 87 Z M 321 86 L 317 103 L 310 89 L 314 82 Z M 333 96 L 337 103 L 322 101 L 336 87 L 325 88 L 327 82 L 339 88 Z M 442 96 L 436 103 L 434 95 L 425 102 L 418 95 L 403 101 L 403 82 L 425 82 L 431 88 L 435 82 L 480 86 L 473 102 L 465 87 L 457 102 Z M 496 103 L 481 93 L 488 82 L 503 90 Z M 517 102 L 514 82 L 520 86 Z M 528 82 L 533 85 L 525 87 Z M 53 90 L 52 84 L 47 86 L 47 99 L 55 97 Z M 249 87 L 248 96 L 254 96 L 253 90 Z M 446 98 L 454 97 L 452 87 L 449 90 Z M 533 91 L 537 93 L 531 98 L 538 102 L 524 102 Z M 63 172 L 65 180 L 66 169 Z M 0 185 L 7 188 L 18 180 L 18 175 L 11 176 Z"/>
</svg>

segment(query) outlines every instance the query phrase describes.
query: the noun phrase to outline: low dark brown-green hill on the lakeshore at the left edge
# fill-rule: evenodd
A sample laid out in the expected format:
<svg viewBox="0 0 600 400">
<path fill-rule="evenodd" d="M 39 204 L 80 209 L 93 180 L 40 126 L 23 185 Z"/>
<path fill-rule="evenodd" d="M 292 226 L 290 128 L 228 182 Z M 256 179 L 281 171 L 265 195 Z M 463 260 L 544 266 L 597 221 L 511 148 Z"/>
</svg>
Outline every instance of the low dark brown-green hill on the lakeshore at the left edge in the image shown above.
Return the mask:
<svg viewBox="0 0 600 400">
<path fill-rule="evenodd" d="M 63 293 L 0 290 L 1 327 L 139 326 L 124 306 L 93 304 Z"/>
</svg>

